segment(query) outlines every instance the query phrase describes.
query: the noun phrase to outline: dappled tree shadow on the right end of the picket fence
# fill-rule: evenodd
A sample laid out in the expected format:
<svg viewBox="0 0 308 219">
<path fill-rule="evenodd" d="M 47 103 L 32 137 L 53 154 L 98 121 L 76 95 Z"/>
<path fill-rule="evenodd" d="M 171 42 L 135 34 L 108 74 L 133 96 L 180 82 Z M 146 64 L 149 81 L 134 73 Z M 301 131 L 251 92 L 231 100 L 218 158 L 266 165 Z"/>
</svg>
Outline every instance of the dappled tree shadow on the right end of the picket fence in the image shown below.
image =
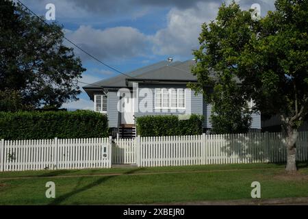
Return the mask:
<svg viewBox="0 0 308 219">
<path fill-rule="evenodd" d="M 216 135 L 217 136 L 217 135 Z M 281 133 L 246 133 L 218 135 L 222 138 L 220 150 L 238 163 L 285 163 L 287 149 Z M 296 159 L 307 161 L 307 133 L 300 133 L 296 142 Z"/>
</svg>

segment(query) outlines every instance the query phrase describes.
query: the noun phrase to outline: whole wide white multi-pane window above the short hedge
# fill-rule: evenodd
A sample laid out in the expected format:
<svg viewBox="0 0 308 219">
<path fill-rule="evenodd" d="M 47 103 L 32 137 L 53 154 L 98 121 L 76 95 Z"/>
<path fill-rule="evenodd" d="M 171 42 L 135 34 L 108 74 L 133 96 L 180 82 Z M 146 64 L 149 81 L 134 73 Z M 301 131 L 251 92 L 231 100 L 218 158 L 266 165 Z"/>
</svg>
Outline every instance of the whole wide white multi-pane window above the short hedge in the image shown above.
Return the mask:
<svg viewBox="0 0 308 219">
<path fill-rule="evenodd" d="M 155 109 L 185 109 L 185 89 L 156 88 Z"/>
</svg>

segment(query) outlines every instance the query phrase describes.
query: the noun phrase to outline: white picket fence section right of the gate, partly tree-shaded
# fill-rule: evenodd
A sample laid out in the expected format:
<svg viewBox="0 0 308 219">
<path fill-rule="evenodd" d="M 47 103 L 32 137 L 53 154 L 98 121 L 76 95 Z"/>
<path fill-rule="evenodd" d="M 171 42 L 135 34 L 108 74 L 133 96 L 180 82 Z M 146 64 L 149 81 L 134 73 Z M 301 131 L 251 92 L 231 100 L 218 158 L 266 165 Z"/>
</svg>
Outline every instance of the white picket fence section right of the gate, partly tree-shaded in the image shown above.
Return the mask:
<svg viewBox="0 0 308 219">
<path fill-rule="evenodd" d="M 281 133 L 137 138 L 138 166 L 286 162 Z M 138 146 L 140 145 L 140 146 Z M 308 132 L 300 132 L 296 159 L 308 160 Z"/>
</svg>

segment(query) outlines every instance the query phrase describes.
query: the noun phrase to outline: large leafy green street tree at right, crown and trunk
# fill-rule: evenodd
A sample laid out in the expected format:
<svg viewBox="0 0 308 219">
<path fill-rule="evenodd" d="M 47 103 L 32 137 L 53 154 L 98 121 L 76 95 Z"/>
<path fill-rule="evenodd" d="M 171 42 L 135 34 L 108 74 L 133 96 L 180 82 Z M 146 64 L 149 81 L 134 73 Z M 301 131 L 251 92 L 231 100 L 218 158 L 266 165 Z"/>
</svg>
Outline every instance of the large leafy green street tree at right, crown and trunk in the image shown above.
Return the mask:
<svg viewBox="0 0 308 219">
<path fill-rule="evenodd" d="M 237 95 L 253 99 L 253 110 L 281 116 L 287 172 L 296 171 L 298 127 L 307 115 L 308 1 L 277 0 L 276 10 L 255 21 L 234 2 L 222 4 L 216 21 L 204 24 L 194 51 L 194 86 L 241 82 Z M 210 77 L 211 70 L 216 77 Z M 229 80 L 220 80 L 227 78 Z"/>
</svg>

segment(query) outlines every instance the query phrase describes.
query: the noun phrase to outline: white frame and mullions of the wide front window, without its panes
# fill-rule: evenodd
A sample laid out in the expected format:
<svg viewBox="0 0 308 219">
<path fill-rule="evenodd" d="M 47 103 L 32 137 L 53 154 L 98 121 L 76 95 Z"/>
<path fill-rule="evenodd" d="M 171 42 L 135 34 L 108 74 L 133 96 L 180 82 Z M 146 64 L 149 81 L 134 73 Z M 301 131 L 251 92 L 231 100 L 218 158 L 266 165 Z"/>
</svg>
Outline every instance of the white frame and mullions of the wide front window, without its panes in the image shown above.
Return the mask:
<svg viewBox="0 0 308 219">
<path fill-rule="evenodd" d="M 172 107 L 172 95 L 171 95 L 171 91 L 175 90 L 177 92 L 177 107 Z M 184 99 L 183 99 L 183 104 L 184 107 L 179 107 L 179 90 L 183 90 L 184 92 Z M 185 88 L 155 88 L 155 94 L 154 94 L 154 108 L 157 110 L 166 110 L 166 109 L 172 109 L 172 110 L 185 110 L 186 109 L 186 89 Z M 160 97 L 160 101 L 161 101 L 161 106 L 158 107 L 156 102 L 157 102 L 157 90 L 160 90 L 161 93 L 161 97 Z M 168 107 L 164 107 L 164 90 L 168 91 Z"/>
</svg>

